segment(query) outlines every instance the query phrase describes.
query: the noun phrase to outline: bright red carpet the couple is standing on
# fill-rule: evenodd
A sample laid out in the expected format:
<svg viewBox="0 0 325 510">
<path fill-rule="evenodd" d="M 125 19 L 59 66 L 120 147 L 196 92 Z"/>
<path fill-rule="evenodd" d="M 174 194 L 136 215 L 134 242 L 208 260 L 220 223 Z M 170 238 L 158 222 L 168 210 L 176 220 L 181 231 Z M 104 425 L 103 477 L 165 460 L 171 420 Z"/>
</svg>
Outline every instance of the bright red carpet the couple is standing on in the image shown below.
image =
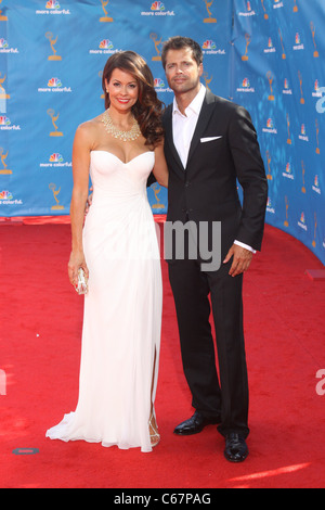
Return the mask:
<svg viewBox="0 0 325 510">
<path fill-rule="evenodd" d="M 251 400 L 246 462 L 224 459 L 214 426 L 187 438 L 172 434 L 192 408 L 165 262 L 160 445 L 141 454 L 47 439 L 46 430 L 76 406 L 82 318 L 82 298 L 66 275 L 69 226 L 56 221 L 0 225 L 0 370 L 6 374 L 6 395 L 0 395 L 1 487 L 325 486 L 325 395 L 316 393 L 316 372 L 325 369 L 325 282 L 306 275 L 324 267 L 271 227 L 244 291 Z M 13 452 L 23 448 L 38 452 Z"/>
</svg>

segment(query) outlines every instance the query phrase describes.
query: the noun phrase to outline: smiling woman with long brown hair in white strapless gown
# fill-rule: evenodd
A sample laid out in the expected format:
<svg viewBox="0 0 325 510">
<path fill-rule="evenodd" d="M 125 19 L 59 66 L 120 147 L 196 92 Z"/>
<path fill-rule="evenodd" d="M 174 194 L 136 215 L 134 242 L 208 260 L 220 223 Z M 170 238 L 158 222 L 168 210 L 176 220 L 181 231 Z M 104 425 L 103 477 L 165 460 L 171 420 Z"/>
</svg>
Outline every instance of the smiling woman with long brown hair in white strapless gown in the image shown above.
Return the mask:
<svg viewBox="0 0 325 510">
<path fill-rule="evenodd" d="M 153 170 L 168 184 L 161 102 L 132 51 L 108 59 L 103 88 L 106 110 L 78 127 L 73 150 L 68 273 L 76 286 L 82 268 L 89 289 L 79 398 L 47 436 L 151 451 L 160 438 L 154 401 L 162 289 L 146 181 Z M 83 227 L 89 173 L 93 199 Z"/>
</svg>

